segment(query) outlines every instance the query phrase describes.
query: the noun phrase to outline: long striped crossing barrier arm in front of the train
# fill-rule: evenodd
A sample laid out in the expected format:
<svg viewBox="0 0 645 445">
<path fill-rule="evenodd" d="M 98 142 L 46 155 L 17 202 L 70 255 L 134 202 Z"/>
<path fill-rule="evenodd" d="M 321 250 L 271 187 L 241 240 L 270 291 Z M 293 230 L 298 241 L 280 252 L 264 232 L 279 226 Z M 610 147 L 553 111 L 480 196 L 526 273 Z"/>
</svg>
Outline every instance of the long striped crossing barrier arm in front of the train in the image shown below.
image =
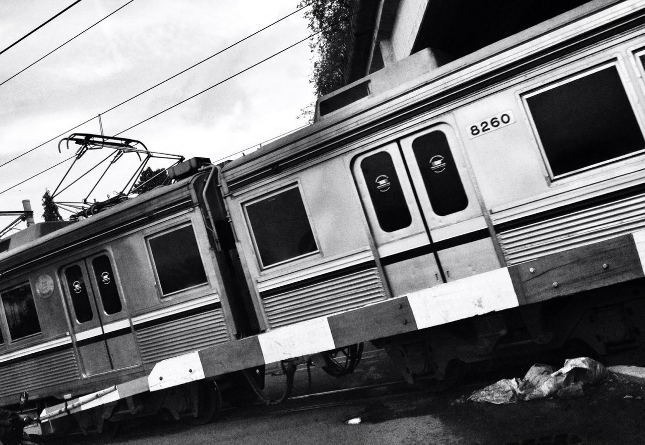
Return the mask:
<svg viewBox="0 0 645 445">
<path fill-rule="evenodd" d="M 622 266 L 617 263 L 618 270 L 610 272 L 614 275 L 606 275 L 611 281 L 602 279 L 597 281 L 595 286 L 608 286 L 645 276 L 645 230 L 542 257 L 535 260 L 535 264 L 538 264 L 537 262 L 542 266 L 552 264 L 553 269 L 548 272 L 541 270 L 533 272 L 535 275 L 546 273 L 549 282 L 551 282 L 551 276 L 548 275 L 550 272 L 561 273 L 562 279 L 567 281 L 585 278 L 582 274 L 588 273 L 588 271 L 585 272 L 586 264 L 593 265 L 595 262 L 603 261 L 594 249 L 606 252 L 606 255 L 611 254 L 615 259 L 622 259 L 624 264 L 635 266 L 639 270 L 635 275 L 627 267 L 624 267 L 624 271 L 620 270 Z M 571 264 L 572 259 L 577 262 L 575 268 L 567 266 Z M 639 261 L 640 264 L 635 264 Z M 386 301 L 375 302 L 362 308 L 299 322 L 253 337 L 209 346 L 199 351 L 166 359 L 155 364 L 148 376 L 46 408 L 41 413 L 41 419 L 47 417 L 52 419 L 75 410 L 87 410 L 145 391 L 172 388 L 232 371 L 333 350 L 356 342 L 370 341 L 439 326 L 492 311 L 515 308 L 526 302 L 525 295 L 521 294 L 527 293 L 528 288 L 522 286 L 530 282 L 522 279 L 519 268 L 528 269 L 528 272 L 524 272 L 533 274 L 531 272 L 535 269 L 533 264 L 534 262 L 526 262 L 480 273 Z M 605 262 L 601 263 L 601 268 L 613 270 Z M 581 276 L 574 276 L 577 274 Z M 559 289 L 555 281 L 551 282 L 550 286 Z M 571 288 L 571 293 L 576 292 L 580 292 L 580 288 Z M 558 294 L 553 295 L 568 294 L 559 291 Z"/>
</svg>

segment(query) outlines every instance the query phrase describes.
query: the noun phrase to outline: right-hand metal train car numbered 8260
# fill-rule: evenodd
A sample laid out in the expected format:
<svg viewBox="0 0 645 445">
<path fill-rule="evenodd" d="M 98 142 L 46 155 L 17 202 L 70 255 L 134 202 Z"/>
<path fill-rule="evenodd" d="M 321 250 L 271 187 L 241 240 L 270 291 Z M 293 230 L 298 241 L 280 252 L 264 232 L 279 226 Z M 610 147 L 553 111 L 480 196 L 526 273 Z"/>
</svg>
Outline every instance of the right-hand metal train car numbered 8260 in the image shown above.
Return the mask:
<svg viewBox="0 0 645 445">
<path fill-rule="evenodd" d="M 644 228 L 644 26 L 642 2 L 591 2 L 453 63 L 424 50 L 322 97 L 313 126 L 228 164 L 224 195 L 264 328 L 433 295 Z M 474 318 L 453 295 L 436 302 L 443 323 L 379 344 L 410 381 L 576 342 L 622 350 L 642 344 L 639 286 L 562 300 L 571 290 L 554 279 L 522 290 L 515 310 Z"/>
</svg>

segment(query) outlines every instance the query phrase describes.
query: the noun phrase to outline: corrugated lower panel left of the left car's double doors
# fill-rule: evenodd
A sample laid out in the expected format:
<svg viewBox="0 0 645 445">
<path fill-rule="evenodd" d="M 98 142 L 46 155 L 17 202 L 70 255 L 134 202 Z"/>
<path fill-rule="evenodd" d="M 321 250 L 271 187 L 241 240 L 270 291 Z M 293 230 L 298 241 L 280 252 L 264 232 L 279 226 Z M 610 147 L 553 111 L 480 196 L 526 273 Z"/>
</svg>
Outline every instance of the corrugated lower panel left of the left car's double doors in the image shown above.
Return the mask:
<svg viewBox="0 0 645 445">
<path fill-rule="evenodd" d="M 0 397 L 81 378 L 71 349 L 0 365 Z"/>
</svg>

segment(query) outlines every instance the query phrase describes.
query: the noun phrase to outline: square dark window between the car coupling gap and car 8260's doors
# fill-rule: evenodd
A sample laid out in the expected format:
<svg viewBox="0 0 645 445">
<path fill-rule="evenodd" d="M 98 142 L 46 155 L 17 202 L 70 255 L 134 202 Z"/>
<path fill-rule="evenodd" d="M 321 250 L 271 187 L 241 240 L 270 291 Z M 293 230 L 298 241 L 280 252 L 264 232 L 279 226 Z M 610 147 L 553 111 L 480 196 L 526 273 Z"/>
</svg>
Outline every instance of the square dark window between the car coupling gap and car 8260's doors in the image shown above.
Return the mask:
<svg viewBox="0 0 645 445">
<path fill-rule="evenodd" d="M 249 204 L 246 214 L 264 266 L 317 250 L 298 188 Z"/>
</svg>

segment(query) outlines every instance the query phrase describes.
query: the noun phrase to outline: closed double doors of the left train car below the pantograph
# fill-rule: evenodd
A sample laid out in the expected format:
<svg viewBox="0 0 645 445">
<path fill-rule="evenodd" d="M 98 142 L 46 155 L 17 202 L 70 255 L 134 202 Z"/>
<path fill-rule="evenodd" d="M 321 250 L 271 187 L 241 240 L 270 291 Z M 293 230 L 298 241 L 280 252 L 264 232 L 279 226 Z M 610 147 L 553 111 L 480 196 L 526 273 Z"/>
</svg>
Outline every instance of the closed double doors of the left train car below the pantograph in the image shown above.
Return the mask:
<svg viewBox="0 0 645 445">
<path fill-rule="evenodd" d="M 112 261 L 100 253 L 68 264 L 61 281 L 84 375 L 141 364 Z"/>
</svg>

